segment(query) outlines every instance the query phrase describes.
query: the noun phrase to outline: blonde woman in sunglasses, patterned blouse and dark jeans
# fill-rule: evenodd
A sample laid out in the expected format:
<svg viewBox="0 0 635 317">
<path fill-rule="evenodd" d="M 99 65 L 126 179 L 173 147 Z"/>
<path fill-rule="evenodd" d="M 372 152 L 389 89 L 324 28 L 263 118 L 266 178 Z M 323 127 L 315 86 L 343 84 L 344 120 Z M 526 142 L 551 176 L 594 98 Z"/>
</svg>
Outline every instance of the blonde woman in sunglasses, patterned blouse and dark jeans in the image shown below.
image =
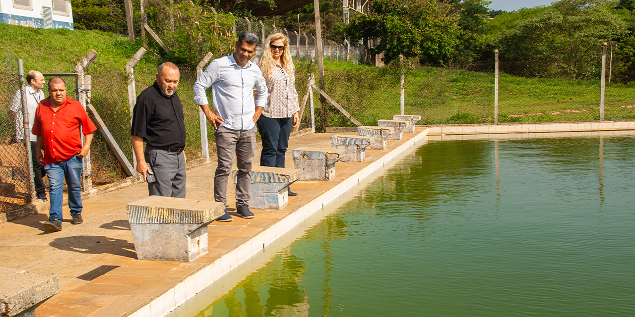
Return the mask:
<svg viewBox="0 0 635 317">
<path fill-rule="evenodd" d="M 260 166 L 284 167 L 284 154 L 291 127 L 300 123 L 298 92 L 295 90 L 295 67 L 289 51 L 289 40 L 282 33 L 271 34 L 264 41 L 258 66 L 267 82 L 267 106 L 258 108 L 262 115 L 257 126 L 262 138 Z M 258 111 L 258 110 L 257 110 Z M 296 194 L 289 191 L 290 196 Z"/>
</svg>

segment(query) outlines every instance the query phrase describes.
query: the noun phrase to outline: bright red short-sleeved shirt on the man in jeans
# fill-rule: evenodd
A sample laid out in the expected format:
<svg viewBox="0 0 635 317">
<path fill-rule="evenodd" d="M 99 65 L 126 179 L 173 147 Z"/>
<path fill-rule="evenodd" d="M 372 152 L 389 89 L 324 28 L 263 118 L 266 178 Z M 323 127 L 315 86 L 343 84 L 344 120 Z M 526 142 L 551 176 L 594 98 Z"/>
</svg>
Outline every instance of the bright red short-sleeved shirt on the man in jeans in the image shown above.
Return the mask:
<svg viewBox="0 0 635 317">
<path fill-rule="evenodd" d="M 74 157 L 82 148 L 81 133 L 88 135 L 95 130 L 97 127 L 81 103 L 67 96 L 57 112 L 49 98 L 42 100 L 37 106 L 31 132 L 42 139 L 44 165 L 48 165 Z"/>
</svg>

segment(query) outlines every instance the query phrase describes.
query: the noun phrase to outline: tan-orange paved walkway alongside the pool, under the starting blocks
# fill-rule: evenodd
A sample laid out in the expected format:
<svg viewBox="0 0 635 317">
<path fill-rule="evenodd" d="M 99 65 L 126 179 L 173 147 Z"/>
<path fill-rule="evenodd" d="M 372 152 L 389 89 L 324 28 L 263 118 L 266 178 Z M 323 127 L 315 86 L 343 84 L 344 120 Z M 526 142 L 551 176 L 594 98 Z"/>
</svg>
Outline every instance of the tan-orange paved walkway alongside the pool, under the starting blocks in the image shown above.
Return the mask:
<svg viewBox="0 0 635 317">
<path fill-rule="evenodd" d="M 210 224 L 210 252 L 194 262 L 137 260 L 126 204 L 148 196 L 143 183 L 84 200 L 84 223 L 74 226 L 65 222 L 57 233 L 43 229 L 46 214 L 0 223 L 0 266 L 59 275 L 60 292 L 36 309 L 39 317 L 128 316 L 422 131 L 417 128 L 416 133 L 404 134 L 401 141 L 389 141 L 386 150 L 368 150 L 364 163 L 338 162 L 334 181 L 297 181 L 291 189 L 299 195 L 289 198 L 288 207 L 253 210 L 254 219 L 242 219 L 233 213 L 234 189 L 229 184 L 227 198 L 234 221 Z M 292 139 L 286 166 L 293 167 L 293 148 L 330 148 L 332 135 L 309 134 Z M 257 150 L 255 165 L 259 157 Z M 187 198 L 213 200 L 215 168 L 214 162 L 187 171 Z M 64 217 L 70 219 L 66 206 Z"/>
</svg>

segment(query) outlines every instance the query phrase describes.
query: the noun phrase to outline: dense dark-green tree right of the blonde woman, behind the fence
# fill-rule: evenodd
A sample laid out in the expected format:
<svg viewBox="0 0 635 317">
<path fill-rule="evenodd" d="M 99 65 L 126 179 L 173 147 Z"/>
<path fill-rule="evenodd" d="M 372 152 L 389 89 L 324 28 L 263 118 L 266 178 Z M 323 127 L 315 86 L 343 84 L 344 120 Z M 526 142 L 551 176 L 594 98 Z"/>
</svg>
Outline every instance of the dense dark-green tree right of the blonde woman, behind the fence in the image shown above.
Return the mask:
<svg viewBox="0 0 635 317">
<path fill-rule="evenodd" d="M 456 16 L 434 0 L 374 0 L 366 15 L 345 29 L 352 41 L 380 39 L 375 53 L 390 63 L 402 54 L 428 65 L 446 65 L 457 44 Z"/>
</svg>

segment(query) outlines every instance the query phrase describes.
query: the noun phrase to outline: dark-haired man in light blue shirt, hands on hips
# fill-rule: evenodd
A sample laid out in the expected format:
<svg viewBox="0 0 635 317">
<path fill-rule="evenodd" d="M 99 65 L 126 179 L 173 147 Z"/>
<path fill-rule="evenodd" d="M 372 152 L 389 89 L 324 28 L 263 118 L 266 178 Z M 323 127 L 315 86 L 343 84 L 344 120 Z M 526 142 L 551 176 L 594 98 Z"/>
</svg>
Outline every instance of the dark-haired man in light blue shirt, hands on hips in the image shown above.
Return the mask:
<svg viewBox="0 0 635 317">
<path fill-rule="evenodd" d="M 215 129 L 218 167 L 214 175 L 214 200 L 225 204 L 225 214 L 218 221 L 232 221 L 227 213 L 227 179 L 232 170 L 234 152 L 238 165 L 236 183 L 236 214 L 253 218 L 249 210 L 251 164 L 256 150 L 256 125 L 267 105 L 267 84 L 260 68 L 251 63 L 258 36 L 242 32 L 236 41 L 236 51 L 211 61 L 210 66 L 194 84 L 194 101 L 201 106 Z M 253 87 L 258 98 L 253 99 Z M 211 87 L 212 105 L 205 94 Z"/>
</svg>

